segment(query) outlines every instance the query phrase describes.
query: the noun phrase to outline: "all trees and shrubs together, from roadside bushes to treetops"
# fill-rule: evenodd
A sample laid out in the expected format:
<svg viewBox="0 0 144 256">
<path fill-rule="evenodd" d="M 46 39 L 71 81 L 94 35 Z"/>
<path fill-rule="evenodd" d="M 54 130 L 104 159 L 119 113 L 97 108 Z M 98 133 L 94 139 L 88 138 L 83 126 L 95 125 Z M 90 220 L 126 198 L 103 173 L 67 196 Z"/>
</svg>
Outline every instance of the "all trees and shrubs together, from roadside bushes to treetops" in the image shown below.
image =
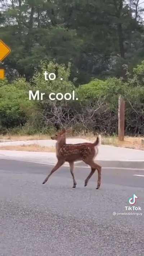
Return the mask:
<svg viewBox="0 0 144 256">
<path fill-rule="evenodd" d="M 1 63 L 0 134 L 117 136 L 118 96 L 125 135 L 144 136 L 144 22 L 139 1 L 0 1 L 0 38 L 12 49 Z M 45 81 L 44 71 L 55 73 Z M 63 80 L 60 80 L 63 78 Z M 45 93 L 29 100 L 29 90 Z M 75 101 L 50 101 L 72 93 Z"/>
</svg>

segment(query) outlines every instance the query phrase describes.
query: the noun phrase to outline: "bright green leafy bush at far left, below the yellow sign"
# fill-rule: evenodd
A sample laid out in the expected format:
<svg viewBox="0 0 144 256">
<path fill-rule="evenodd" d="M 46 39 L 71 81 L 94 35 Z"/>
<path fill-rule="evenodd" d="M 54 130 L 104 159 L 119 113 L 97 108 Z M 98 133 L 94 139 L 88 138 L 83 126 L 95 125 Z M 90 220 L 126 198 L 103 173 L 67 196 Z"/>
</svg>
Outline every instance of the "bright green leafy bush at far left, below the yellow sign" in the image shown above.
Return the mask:
<svg viewBox="0 0 144 256">
<path fill-rule="evenodd" d="M 0 81 L 0 130 L 21 126 L 27 121 L 32 102 L 28 100 L 29 85 L 23 78 L 8 84 Z"/>
</svg>

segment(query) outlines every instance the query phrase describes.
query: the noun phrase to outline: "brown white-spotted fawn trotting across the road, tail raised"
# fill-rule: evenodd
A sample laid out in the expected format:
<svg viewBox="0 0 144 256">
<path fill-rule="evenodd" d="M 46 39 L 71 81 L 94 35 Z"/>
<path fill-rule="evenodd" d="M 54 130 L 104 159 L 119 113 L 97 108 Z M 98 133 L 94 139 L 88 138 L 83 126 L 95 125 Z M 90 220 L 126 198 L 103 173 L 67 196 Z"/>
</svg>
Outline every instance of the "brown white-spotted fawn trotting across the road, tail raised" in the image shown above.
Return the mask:
<svg viewBox="0 0 144 256">
<path fill-rule="evenodd" d="M 97 169 L 98 184 L 96 189 L 99 189 L 102 167 L 94 162 L 94 157 L 98 154 L 98 146 L 101 144 L 101 136 L 99 135 L 94 143 L 66 144 L 66 132 L 68 132 L 68 130 L 66 131 L 66 129 L 63 128 L 62 131 L 55 134 L 55 136 L 51 137 L 51 139 L 57 140 L 56 153 L 58 162 L 42 184 L 45 184 L 46 181 L 48 181 L 51 174 L 58 170 L 58 168 L 62 166 L 64 162 L 68 162 L 73 179 L 73 188 L 76 188 L 77 183 L 75 180 L 75 176 L 73 174 L 74 162 L 82 160 L 91 167 L 91 172 L 85 180 L 85 186 L 87 186 L 89 179 Z"/>
</svg>

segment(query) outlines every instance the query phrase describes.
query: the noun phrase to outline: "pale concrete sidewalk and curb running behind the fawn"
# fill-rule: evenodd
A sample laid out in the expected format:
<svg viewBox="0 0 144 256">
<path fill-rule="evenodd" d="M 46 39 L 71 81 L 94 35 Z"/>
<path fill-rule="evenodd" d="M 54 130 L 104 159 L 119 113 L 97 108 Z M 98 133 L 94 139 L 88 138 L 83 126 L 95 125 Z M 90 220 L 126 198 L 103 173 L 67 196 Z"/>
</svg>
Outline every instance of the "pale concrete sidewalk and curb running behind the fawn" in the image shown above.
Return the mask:
<svg viewBox="0 0 144 256">
<path fill-rule="evenodd" d="M 67 139 L 67 143 L 87 142 L 84 139 Z M 53 140 L 35 140 L 21 142 L 3 142 L 0 145 L 22 145 L 22 144 L 39 144 L 55 146 Z M 26 151 L 8 151 L 0 150 L 0 159 L 33 162 L 46 165 L 55 165 L 57 158 L 54 152 L 26 152 Z M 144 170 L 144 151 L 128 148 L 119 148 L 109 145 L 101 145 L 99 154 L 95 161 L 104 168 L 131 168 Z M 76 166 L 83 167 L 83 162 L 76 162 Z"/>
</svg>

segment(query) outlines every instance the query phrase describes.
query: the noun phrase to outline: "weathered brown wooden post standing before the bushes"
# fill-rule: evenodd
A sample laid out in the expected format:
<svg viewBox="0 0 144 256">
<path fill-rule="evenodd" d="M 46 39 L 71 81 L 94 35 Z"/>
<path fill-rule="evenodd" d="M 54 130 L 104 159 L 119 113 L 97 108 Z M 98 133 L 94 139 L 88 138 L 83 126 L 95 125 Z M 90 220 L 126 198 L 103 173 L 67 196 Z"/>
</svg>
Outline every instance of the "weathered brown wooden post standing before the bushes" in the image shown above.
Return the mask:
<svg viewBox="0 0 144 256">
<path fill-rule="evenodd" d="M 125 133 L 125 101 L 120 96 L 118 99 L 118 139 L 123 141 Z"/>
</svg>

